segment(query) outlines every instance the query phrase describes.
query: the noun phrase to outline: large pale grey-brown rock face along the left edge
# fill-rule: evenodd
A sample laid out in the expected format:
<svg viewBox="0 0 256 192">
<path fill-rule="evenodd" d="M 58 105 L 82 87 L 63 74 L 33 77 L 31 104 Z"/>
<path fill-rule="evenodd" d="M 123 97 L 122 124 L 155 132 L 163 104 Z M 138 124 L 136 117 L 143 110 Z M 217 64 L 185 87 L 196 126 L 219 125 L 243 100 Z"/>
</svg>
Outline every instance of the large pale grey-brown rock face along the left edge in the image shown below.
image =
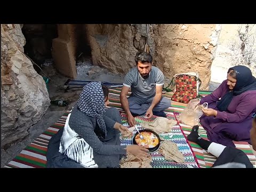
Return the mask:
<svg viewBox="0 0 256 192">
<path fill-rule="evenodd" d="M 19 24 L 1 25 L 1 147 L 28 135 L 50 105 L 42 76 L 23 54 Z"/>
</svg>

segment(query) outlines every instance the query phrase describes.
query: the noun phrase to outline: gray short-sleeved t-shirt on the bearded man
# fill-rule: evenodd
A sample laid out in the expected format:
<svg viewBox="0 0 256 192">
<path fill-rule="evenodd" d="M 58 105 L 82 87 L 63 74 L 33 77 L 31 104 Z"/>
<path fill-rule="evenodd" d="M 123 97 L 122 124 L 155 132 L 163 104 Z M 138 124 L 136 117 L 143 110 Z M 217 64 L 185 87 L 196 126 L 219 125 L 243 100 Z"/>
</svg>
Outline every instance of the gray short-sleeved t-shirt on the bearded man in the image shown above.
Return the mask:
<svg viewBox="0 0 256 192">
<path fill-rule="evenodd" d="M 152 66 L 149 77 L 143 79 L 138 68 L 134 67 L 124 77 L 124 86 L 131 87 L 132 94 L 135 97 L 147 99 L 156 94 L 156 85 L 164 84 L 164 74 L 157 67 Z"/>
</svg>

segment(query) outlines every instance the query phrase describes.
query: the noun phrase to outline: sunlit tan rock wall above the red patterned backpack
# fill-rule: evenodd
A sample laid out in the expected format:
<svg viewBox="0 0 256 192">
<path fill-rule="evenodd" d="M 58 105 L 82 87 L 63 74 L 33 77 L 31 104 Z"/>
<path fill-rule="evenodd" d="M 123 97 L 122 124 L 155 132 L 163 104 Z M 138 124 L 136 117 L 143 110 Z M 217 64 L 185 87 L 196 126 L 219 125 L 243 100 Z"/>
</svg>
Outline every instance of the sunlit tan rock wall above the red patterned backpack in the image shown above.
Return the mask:
<svg viewBox="0 0 256 192">
<path fill-rule="evenodd" d="M 200 89 L 208 89 L 211 63 L 214 58 L 218 31 L 215 25 L 157 25 L 155 63 L 172 77 L 177 73 L 198 72 Z"/>
</svg>

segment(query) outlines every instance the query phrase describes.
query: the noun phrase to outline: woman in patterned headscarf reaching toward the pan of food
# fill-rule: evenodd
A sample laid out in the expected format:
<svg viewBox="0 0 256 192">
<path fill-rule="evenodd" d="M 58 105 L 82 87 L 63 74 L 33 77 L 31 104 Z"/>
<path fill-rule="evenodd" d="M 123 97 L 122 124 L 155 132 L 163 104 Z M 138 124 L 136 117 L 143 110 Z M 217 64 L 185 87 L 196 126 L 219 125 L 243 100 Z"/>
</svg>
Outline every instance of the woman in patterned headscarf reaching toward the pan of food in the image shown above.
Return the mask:
<svg viewBox="0 0 256 192">
<path fill-rule="evenodd" d="M 148 150 L 141 146 L 121 146 L 119 132 L 127 127 L 116 108 L 105 109 L 108 103 L 106 86 L 98 82 L 84 86 L 65 127 L 49 142 L 47 167 L 115 167 L 126 152 L 147 156 Z"/>
</svg>

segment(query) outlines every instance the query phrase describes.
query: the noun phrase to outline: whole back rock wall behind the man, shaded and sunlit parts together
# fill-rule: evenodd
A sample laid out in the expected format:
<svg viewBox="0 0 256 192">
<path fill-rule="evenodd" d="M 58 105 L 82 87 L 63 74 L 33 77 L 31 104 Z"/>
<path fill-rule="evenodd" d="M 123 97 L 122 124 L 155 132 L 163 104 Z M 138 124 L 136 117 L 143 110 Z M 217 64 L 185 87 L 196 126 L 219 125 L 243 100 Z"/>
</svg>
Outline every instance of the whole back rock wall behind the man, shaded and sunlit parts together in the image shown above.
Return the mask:
<svg viewBox="0 0 256 192">
<path fill-rule="evenodd" d="M 147 27 L 133 25 L 86 25 L 94 65 L 114 73 L 127 73 L 135 66 L 134 56 L 144 50 Z M 166 77 L 197 71 L 202 79 L 201 89 L 207 89 L 211 78 L 220 28 L 217 25 L 149 25 L 150 53 L 153 65 Z"/>
</svg>

